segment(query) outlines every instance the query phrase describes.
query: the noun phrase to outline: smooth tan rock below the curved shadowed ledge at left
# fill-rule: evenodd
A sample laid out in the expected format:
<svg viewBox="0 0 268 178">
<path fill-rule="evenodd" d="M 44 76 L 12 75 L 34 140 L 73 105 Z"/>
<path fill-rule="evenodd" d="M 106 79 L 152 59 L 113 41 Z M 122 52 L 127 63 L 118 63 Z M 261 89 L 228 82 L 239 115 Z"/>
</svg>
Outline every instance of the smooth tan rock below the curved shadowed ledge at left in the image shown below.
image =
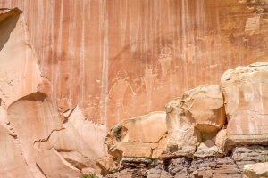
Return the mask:
<svg viewBox="0 0 268 178">
<path fill-rule="evenodd" d="M 30 172 L 34 177 L 44 177 L 36 166 L 38 150 L 34 144 L 46 141 L 53 132 L 63 129 L 63 114 L 46 94 L 39 92 L 13 102 L 7 114 Z"/>
</svg>

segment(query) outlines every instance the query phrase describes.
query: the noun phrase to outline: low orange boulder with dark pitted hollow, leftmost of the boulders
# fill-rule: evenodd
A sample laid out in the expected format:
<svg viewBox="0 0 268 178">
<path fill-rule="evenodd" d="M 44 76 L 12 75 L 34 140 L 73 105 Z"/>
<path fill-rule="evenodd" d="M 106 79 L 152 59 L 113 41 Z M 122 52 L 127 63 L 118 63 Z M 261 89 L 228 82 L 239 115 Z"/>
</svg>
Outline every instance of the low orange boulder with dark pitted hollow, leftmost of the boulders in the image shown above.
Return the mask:
<svg viewBox="0 0 268 178">
<path fill-rule="evenodd" d="M 158 158 L 166 149 L 166 114 L 153 112 L 114 125 L 105 137 L 109 153 L 117 158 Z"/>
</svg>

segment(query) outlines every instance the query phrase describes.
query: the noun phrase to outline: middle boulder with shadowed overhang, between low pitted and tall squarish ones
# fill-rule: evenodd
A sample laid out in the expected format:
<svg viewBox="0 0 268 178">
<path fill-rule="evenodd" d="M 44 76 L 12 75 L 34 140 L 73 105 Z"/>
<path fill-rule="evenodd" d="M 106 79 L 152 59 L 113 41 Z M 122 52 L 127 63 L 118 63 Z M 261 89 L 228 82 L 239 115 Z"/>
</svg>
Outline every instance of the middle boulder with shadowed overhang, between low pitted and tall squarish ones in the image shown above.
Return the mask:
<svg viewBox="0 0 268 178">
<path fill-rule="evenodd" d="M 198 86 L 168 103 L 166 112 L 168 149 L 192 158 L 198 144 L 213 140 L 225 124 L 222 88 Z"/>
</svg>

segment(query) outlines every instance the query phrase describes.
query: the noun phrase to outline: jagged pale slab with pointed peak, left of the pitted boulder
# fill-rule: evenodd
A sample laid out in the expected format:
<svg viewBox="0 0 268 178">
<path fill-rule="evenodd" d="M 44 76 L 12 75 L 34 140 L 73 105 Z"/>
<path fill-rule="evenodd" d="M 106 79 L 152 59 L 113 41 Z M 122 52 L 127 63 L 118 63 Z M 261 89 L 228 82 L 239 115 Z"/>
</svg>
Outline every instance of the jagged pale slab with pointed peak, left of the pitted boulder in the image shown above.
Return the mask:
<svg viewBox="0 0 268 178">
<path fill-rule="evenodd" d="M 71 110 L 65 118 L 63 130 L 54 132 L 43 142 L 36 142 L 38 150 L 57 150 L 72 166 L 82 170 L 91 168 L 91 174 L 99 173 L 96 160 L 105 157 L 105 145 L 96 138 L 105 141 L 105 125 L 94 125 L 85 119 L 79 107 Z"/>
</svg>

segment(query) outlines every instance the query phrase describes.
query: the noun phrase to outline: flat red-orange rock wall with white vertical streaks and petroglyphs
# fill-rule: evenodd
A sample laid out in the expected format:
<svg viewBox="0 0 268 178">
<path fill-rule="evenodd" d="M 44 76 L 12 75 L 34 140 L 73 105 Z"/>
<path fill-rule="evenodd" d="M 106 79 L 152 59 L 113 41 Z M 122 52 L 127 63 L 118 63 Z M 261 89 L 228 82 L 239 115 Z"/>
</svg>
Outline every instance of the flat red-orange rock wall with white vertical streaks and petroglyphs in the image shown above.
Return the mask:
<svg viewBox="0 0 268 178">
<path fill-rule="evenodd" d="M 0 0 L 26 16 L 42 76 L 63 109 L 112 125 L 222 73 L 266 61 L 267 1 Z M 169 53 L 161 55 L 164 48 Z M 165 50 L 162 51 L 165 53 Z"/>
</svg>

